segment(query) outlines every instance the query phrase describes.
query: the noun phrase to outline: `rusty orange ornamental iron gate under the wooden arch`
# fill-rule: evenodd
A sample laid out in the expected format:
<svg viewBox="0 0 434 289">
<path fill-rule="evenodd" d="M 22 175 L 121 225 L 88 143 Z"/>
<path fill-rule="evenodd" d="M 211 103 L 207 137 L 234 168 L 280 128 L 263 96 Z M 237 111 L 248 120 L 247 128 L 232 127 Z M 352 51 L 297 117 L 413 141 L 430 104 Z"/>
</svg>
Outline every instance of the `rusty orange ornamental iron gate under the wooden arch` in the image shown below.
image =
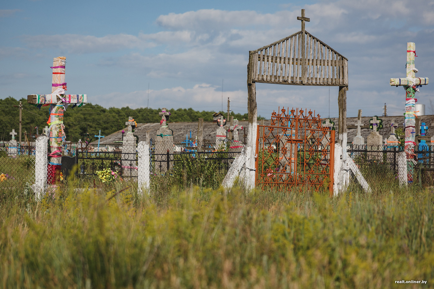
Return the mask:
<svg viewBox="0 0 434 289">
<path fill-rule="evenodd" d="M 288 109 L 279 107 L 280 114 L 273 112 L 270 126 L 258 125 L 256 187 L 328 188 L 332 195 L 335 131 L 323 127 L 315 111 Z"/>
</svg>

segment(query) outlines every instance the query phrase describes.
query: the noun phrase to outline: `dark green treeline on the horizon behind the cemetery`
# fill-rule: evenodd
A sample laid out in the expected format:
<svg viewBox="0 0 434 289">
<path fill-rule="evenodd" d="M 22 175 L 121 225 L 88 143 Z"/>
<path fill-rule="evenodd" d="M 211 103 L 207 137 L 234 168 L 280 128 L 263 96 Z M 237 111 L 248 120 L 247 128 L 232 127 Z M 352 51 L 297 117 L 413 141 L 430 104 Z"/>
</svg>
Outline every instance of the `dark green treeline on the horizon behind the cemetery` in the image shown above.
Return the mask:
<svg viewBox="0 0 434 289">
<path fill-rule="evenodd" d="M 24 141 L 24 131 L 28 134 L 36 134 L 36 127 L 39 127 L 39 134 L 42 134 L 43 128 L 47 125 L 48 120 L 48 107 L 42 107 L 40 110 L 33 105 L 27 103 L 27 99 L 21 99 L 23 103 L 22 111 L 22 140 Z M 0 139 L 2 141 L 8 141 L 11 139 L 9 135 L 12 129 L 18 133 L 19 131 L 19 101 L 8 97 L 6 99 L 0 99 Z M 78 108 L 67 108 L 64 112 L 65 121 L 65 134 L 66 139 L 72 141 L 78 141 L 82 138 L 79 134 L 86 132 L 86 128 L 89 134 L 98 135 L 101 130 L 102 135 L 110 135 L 115 131 L 125 128 L 125 122 L 128 121 L 128 116 L 132 116 L 137 123 L 155 123 L 160 122 L 161 117 L 158 112 L 161 108 L 136 108 L 132 109 L 127 107 L 123 108 L 103 108 L 101 105 L 93 105 L 88 103 Z M 211 122 L 213 120 L 212 112 L 207 111 L 195 111 L 193 108 L 178 108 L 170 109 L 171 116 L 170 122 L 197 122 L 198 118 L 203 118 L 205 122 Z M 226 115 L 226 112 L 224 112 Z M 248 119 L 247 113 L 231 113 L 234 118 L 238 120 Z M 261 118 L 258 118 L 261 119 Z M 19 136 L 16 135 L 16 139 Z"/>
</svg>

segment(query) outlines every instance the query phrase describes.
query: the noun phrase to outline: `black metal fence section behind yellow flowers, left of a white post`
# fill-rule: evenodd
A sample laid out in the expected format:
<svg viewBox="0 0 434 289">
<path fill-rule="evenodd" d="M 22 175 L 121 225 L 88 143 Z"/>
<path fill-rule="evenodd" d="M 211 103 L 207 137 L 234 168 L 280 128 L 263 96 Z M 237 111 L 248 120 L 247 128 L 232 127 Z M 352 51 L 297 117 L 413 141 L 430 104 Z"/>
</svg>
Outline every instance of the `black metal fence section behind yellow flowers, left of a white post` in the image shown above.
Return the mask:
<svg viewBox="0 0 434 289">
<path fill-rule="evenodd" d="M 137 160 L 137 153 L 79 151 L 76 154 L 76 174 L 91 176 L 97 171 L 111 169 L 121 177 L 137 178 Z"/>
</svg>

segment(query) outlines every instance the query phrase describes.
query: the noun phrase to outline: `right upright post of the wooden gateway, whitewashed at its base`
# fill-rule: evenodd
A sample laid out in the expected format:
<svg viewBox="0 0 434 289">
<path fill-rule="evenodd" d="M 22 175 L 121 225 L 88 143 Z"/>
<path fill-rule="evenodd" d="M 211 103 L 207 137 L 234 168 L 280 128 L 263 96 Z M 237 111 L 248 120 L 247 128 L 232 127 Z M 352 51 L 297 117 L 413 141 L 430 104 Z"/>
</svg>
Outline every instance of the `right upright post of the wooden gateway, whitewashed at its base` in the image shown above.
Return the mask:
<svg viewBox="0 0 434 289">
<path fill-rule="evenodd" d="M 339 86 L 338 105 L 339 105 L 339 144 L 342 147 L 341 170 L 336 172 L 341 174 L 339 181 L 342 182 L 340 187 L 345 190 L 349 182 L 347 170 L 347 90 L 348 86 Z"/>
</svg>

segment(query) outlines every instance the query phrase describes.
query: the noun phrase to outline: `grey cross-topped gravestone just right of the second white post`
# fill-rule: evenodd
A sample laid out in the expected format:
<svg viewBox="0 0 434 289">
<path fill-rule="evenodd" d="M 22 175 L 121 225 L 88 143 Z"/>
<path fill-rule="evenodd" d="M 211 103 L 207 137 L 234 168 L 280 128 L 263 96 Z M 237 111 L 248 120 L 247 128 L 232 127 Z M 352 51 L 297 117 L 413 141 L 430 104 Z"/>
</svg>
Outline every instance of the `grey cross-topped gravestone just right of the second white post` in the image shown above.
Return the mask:
<svg viewBox="0 0 434 289">
<path fill-rule="evenodd" d="M 165 173 L 173 167 L 173 133 L 168 128 L 167 121 L 169 120 L 170 112 L 166 111 L 166 108 L 161 108 L 160 125 L 157 134 L 155 136 L 155 173 Z M 167 159 L 167 152 L 169 152 L 169 160 Z M 169 166 L 167 165 L 169 164 Z"/>
</svg>

